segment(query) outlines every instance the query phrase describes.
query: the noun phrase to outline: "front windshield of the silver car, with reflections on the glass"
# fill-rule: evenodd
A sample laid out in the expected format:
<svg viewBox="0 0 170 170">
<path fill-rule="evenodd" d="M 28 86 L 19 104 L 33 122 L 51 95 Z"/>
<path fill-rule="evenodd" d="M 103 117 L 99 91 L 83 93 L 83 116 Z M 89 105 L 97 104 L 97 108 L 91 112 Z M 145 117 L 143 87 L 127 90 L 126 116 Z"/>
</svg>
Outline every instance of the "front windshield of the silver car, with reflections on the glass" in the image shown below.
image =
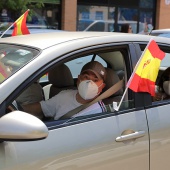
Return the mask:
<svg viewBox="0 0 170 170">
<path fill-rule="evenodd" d="M 32 60 L 38 51 L 16 45 L 0 44 L 0 83 Z"/>
</svg>

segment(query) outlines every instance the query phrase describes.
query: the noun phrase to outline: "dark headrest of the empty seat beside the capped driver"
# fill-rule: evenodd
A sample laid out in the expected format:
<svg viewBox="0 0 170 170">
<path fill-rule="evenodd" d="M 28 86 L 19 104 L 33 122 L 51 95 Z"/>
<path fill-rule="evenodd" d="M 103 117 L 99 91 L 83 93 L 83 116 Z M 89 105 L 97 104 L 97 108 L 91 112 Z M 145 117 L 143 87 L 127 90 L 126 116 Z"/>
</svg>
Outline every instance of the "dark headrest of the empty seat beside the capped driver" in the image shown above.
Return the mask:
<svg viewBox="0 0 170 170">
<path fill-rule="evenodd" d="M 57 65 L 51 69 L 48 73 L 48 79 L 52 85 L 58 88 L 74 85 L 70 69 L 65 64 Z"/>
</svg>

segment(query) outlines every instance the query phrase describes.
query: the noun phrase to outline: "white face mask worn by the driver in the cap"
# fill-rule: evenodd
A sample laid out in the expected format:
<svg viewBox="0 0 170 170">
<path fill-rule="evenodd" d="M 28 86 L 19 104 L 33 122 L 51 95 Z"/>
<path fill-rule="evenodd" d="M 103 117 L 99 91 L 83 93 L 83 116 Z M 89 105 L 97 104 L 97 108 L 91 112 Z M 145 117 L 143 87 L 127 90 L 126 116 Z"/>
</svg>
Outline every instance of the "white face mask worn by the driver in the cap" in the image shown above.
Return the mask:
<svg viewBox="0 0 170 170">
<path fill-rule="evenodd" d="M 78 91 L 79 91 L 80 96 L 84 100 L 89 100 L 89 99 L 93 99 L 99 94 L 98 93 L 99 87 L 92 80 L 84 80 L 79 84 Z"/>
</svg>

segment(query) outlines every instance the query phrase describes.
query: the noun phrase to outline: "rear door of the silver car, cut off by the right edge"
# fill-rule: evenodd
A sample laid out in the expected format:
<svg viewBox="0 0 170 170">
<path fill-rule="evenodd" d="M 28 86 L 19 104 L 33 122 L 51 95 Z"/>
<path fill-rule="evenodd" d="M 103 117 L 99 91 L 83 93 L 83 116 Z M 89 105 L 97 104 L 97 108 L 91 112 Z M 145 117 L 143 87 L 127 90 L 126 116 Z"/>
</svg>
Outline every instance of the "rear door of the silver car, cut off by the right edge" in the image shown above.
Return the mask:
<svg viewBox="0 0 170 170">
<path fill-rule="evenodd" d="M 160 65 L 157 77 L 159 82 L 162 72 L 170 66 L 168 45 L 159 45 L 165 52 L 165 58 Z M 170 162 L 170 100 L 153 101 L 152 106 L 146 108 L 150 134 L 150 169 L 169 169 Z"/>
</svg>

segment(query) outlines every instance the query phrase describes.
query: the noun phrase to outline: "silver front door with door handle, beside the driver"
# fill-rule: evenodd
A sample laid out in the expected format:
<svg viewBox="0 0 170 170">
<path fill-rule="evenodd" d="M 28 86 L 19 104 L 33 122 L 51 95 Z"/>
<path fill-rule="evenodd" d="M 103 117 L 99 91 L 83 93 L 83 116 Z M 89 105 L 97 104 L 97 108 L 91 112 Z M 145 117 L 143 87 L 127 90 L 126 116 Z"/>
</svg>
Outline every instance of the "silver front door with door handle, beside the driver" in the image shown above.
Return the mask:
<svg viewBox="0 0 170 170">
<path fill-rule="evenodd" d="M 85 56 L 93 51 L 112 65 L 120 57 L 116 56 L 119 52 L 125 64 L 127 81 L 139 57 L 140 50 L 137 47 L 131 43 L 117 43 L 103 45 L 102 48 L 89 47 L 76 53 Z M 135 95 L 129 91 L 117 112 L 106 111 L 64 122 L 47 121 L 49 136 L 44 140 L 2 141 L 0 168 L 149 170 L 149 136 L 144 103 L 145 94 Z"/>
</svg>

